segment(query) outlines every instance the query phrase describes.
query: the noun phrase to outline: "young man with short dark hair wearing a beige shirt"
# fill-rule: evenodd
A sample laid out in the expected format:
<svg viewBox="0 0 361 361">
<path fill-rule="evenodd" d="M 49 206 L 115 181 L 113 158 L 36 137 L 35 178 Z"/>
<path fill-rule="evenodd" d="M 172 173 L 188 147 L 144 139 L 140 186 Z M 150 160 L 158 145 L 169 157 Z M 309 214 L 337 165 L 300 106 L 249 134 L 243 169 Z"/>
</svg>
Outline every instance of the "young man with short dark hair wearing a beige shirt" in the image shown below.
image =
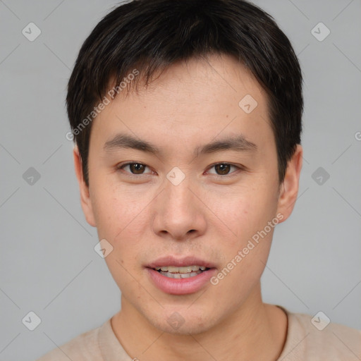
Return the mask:
<svg viewBox="0 0 361 361">
<path fill-rule="evenodd" d="M 118 6 L 82 45 L 66 100 L 82 209 L 121 310 L 39 360 L 361 357 L 360 331 L 262 301 L 302 168 L 300 65 L 267 13 Z"/>
</svg>

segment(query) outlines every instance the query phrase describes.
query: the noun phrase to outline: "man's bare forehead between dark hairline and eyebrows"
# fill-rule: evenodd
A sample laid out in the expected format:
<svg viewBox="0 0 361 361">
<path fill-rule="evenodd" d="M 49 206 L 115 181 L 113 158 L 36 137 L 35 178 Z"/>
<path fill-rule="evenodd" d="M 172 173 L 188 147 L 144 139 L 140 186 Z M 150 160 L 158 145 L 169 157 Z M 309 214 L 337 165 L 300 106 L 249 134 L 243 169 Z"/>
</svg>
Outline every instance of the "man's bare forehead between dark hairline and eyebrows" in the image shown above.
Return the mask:
<svg viewBox="0 0 361 361">
<path fill-rule="evenodd" d="M 173 146 L 239 133 L 272 137 L 266 92 L 230 56 L 176 63 L 148 87 L 120 92 L 94 119 L 91 136 L 104 145 L 121 130 Z"/>
</svg>

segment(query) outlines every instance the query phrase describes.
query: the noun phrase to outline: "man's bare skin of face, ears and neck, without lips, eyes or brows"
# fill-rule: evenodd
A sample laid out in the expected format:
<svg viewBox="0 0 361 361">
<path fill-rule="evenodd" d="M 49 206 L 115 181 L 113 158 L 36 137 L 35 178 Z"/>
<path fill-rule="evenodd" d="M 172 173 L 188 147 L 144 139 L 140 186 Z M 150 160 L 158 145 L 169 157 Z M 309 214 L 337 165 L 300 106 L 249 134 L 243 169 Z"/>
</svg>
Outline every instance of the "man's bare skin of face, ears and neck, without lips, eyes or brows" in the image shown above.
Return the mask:
<svg viewBox="0 0 361 361">
<path fill-rule="evenodd" d="M 246 94 L 258 103 L 250 114 L 238 106 Z M 116 133 L 146 140 L 161 153 L 104 151 Z M 257 151 L 193 155 L 197 146 L 240 133 Z M 111 326 L 130 357 L 277 359 L 286 341 L 287 317 L 262 302 L 260 289 L 274 228 L 216 286 L 207 283 L 196 293 L 166 294 L 145 269 L 164 255 L 196 255 L 221 271 L 267 222 L 277 214 L 285 221 L 293 210 L 302 147 L 280 185 L 266 93 L 243 66 L 228 56 L 177 63 L 147 89 L 119 94 L 92 124 L 89 187 L 76 147 L 74 161 L 87 222 L 97 227 L 99 240 L 114 247 L 105 260 L 121 289 L 121 311 Z M 134 168 L 117 169 L 126 161 L 147 168 L 132 177 Z M 222 162 L 245 169 L 231 167 L 217 175 L 219 168 L 212 165 Z M 179 185 L 166 178 L 175 166 L 185 174 Z M 178 329 L 167 322 L 173 312 L 184 320 Z"/>
</svg>

